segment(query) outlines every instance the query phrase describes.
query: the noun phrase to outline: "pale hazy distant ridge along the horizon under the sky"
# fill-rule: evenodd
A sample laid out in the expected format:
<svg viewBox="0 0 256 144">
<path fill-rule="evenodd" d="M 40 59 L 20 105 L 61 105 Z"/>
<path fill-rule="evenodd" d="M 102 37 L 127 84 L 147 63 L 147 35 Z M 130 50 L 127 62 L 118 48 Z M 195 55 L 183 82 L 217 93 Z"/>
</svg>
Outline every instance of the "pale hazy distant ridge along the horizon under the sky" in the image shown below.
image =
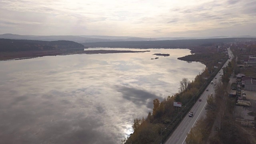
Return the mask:
<svg viewBox="0 0 256 144">
<path fill-rule="evenodd" d="M 208 36 L 208 37 L 159 37 L 159 38 L 141 38 L 132 36 L 33 36 L 33 35 L 18 35 L 18 34 L 0 34 L 0 38 L 16 39 L 16 40 L 69 40 L 78 43 L 87 42 L 128 42 L 128 41 L 156 41 L 156 40 L 196 40 L 210 38 L 256 38 L 256 36 Z"/>
</svg>

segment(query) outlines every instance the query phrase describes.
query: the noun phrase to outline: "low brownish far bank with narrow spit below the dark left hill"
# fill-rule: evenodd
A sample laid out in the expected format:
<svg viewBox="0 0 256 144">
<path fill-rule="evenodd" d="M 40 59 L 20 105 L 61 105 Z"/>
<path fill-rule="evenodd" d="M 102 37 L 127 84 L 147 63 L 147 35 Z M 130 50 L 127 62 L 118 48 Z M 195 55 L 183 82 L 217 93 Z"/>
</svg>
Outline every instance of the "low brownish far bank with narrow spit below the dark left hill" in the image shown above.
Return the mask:
<svg viewBox="0 0 256 144">
<path fill-rule="evenodd" d="M 52 51 L 26 51 L 26 52 L 0 52 L 0 60 L 18 60 L 26 58 L 36 58 L 42 56 L 58 56 L 70 54 L 114 54 L 114 53 L 137 53 L 137 52 L 150 52 L 145 51 L 132 51 L 132 50 L 52 50 Z"/>
</svg>

